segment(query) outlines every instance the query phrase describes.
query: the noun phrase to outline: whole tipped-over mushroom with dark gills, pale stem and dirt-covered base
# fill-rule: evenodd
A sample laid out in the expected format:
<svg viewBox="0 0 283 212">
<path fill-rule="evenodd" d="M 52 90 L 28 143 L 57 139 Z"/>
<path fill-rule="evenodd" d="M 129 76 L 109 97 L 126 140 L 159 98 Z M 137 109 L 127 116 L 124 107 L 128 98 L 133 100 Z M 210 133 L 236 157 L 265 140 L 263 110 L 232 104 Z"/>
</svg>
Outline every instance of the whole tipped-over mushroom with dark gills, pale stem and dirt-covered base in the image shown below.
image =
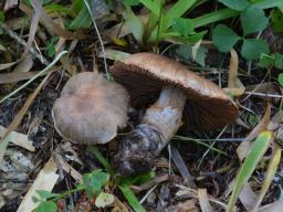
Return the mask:
<svg viewBox="0 0 283 212">
<path fill-rule="evenodd" d="M 154 159 L 182 125 L 212 129 L 231 124 L 238 106 L 221 88 L 187 70 L 180 63 L 153 53 L 137 53 L 111 67 L 116 82 L 127 88 L 134 105 L 145 96 L 159 94 L 142 123 L 122 139 L 114 165 L 122 174 L 150 169 Z"/>
</svg>

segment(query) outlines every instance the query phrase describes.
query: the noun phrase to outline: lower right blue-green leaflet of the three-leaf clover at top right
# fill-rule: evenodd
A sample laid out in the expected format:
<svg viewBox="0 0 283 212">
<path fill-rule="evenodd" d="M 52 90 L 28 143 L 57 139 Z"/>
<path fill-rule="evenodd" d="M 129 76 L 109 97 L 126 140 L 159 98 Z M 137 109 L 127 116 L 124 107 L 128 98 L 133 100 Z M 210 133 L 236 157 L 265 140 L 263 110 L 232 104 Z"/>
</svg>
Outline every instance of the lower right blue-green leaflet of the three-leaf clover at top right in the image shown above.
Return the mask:
<svg viewBox="0 0 283 212">
<path fill-rule="evenodd" d="M 269 54 L 269 45 L 264 40 L 261 39 L 244 39 L 241 50 L 241 54 L 244 59 L 258 60 L 261 57 L 261 54 Z"/>
</svg>

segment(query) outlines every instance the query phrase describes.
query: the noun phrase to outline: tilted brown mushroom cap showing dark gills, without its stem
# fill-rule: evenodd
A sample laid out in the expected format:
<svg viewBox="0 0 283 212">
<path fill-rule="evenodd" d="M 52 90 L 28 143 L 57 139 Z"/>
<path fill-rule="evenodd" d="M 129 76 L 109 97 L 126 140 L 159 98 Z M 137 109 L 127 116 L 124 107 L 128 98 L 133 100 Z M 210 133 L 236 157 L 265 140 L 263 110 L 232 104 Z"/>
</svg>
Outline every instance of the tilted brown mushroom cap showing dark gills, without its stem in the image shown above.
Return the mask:
<svg viewBox="0 0 283 212">
<path fill-rule="evenodd" d="M 238 106 L 214 83 L 186 66 L 153 53 L 137 53 L 111 68 L 113 77 L 127 88 L 133 105 L 158 94 L 164 86 L 181 88 L 187 94 L 186 120 L 190 128 L 212 129 L 231 124 Z"/>
</svg>

